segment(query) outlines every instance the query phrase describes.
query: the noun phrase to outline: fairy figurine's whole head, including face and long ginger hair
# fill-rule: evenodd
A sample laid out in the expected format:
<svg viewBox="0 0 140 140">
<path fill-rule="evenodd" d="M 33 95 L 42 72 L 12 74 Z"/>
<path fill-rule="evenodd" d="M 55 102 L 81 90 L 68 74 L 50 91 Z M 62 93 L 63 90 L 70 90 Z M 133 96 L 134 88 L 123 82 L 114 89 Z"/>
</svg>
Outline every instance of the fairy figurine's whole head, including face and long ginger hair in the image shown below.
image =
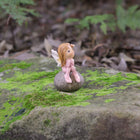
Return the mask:
<svg viewBox="0 0 140 140">
<path fill-rule="evenodd" d="M 70 43 L 62 43 L 58 47 L 58 55 L 61 61 L 61 66 L 63 67 L 66 64 L 66 60 L 74 57 L 74 45 Z"/>
</svg>

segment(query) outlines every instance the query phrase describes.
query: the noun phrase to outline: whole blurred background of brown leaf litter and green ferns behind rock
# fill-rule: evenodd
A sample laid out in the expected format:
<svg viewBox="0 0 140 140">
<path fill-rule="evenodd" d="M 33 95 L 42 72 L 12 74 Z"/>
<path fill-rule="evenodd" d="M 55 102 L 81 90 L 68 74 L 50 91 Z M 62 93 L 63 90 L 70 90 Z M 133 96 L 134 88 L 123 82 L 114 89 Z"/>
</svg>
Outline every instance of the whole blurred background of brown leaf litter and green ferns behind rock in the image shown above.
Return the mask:
<svg viewBox="0 0 140 140">
<path fill-rule="evenodd" d="M 0 59 L 51 57 L 75 44 L 75 63 L 140 73 L 139 0 L 0 0 Z"/>
</svg>

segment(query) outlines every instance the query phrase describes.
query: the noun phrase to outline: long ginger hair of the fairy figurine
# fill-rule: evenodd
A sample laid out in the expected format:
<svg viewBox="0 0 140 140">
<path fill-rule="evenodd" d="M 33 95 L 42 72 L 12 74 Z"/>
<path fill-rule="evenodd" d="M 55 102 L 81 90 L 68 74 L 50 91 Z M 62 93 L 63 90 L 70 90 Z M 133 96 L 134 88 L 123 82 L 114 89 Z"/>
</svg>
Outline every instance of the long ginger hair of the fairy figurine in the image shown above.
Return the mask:
<svg viewBox="0 0 140 140">
<path fill-rule="evenodd" d="M 61 67 L 66 65 L 66 51 L 69 49 L 68 46 L 71 46 L 71 48 L 74 47 L 74 45 L 70 43 L 62 43 L 58 47 L 58 56 L 61 61 Z"/>
</svg>

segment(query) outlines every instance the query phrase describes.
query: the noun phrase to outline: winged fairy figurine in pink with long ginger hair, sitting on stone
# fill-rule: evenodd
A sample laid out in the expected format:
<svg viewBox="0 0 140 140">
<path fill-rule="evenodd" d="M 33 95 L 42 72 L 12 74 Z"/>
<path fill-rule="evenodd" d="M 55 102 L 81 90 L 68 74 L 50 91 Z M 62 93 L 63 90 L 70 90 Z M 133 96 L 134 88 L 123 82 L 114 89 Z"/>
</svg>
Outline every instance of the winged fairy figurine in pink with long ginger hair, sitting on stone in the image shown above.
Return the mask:
<svg viewBox="0 0 140 140">
<path fill-rule="evenodd" d="M 65 78 L 66 83 L 72 83 L 70 73 L 73 74 L 75 81 L 77 83 L 80 83 L 80 77 L 74 66 L 74 59 L 73 59 L 73 57 L 74 57 L 73 47 L 74 46 L 75 46 L 74 44 L 62 43 L 58 47 L 58 53 L 54 50 L 51 50 L 52 56 L 58 63 L 58 66 L 62 67 L 62 71 L 64 73 L 64 78 Z"/>
</svg>

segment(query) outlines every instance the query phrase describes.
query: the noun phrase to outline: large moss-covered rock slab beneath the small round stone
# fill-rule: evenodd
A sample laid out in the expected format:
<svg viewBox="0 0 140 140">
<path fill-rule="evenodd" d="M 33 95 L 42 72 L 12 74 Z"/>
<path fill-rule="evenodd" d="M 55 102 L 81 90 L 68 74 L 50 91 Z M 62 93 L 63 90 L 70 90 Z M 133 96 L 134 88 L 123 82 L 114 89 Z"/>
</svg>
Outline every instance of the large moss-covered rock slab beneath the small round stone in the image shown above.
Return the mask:
<svg viewBox="0 0 140 140">
<path fill-rule="evenodd" d="M 0 139 L 138 140 L 140 77 L 80 68 L 85 83 L 60 92 L 52 59 L 0 61 Z"/>
</svg>

